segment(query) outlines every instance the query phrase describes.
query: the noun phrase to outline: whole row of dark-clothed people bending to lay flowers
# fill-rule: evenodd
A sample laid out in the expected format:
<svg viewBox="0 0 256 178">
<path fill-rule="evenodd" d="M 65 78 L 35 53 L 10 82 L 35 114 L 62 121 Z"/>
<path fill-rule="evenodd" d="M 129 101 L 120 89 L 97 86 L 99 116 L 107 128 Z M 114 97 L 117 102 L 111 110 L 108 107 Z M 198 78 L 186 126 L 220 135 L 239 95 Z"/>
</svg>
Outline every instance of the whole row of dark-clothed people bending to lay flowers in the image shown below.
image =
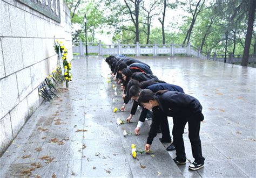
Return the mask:
<svg viewBox="0 0 256 178">
<path fill-rule="evenodd" d="M 167 83 L 153 75 L 151 67 L 145 62 L 125 56 L 109 56 L 105 59 L 111 70 L 113 79 L 120 84 L 123 90 L 124 104 L 121 111 L 129 101 L 133 101 L 129 123 L 136 113 L 138 106 L 142 106 L 138 124 L 134 134 L 139 136 L 140 128 L 146 118 L 152 118 L 149 135 L 146 140 L 145 150 L 150 151 L 152 141 L 157 133 L 161 143 L 171 143 L 167 151 L 176 150 L 176 158 L 173 161 L 177 165 L 185 165 L 186 153 L 183 133 L 188 124 L 188 138 L 190 139 L 194 162 L 189 169 L 198 170 L 204 167 L 205 158 L 202 155 L 201 140 L 199 136 L 200 123 L 204 120 L 203 107 L 198 99 L 184 93 L 180 86 Z M 170 135 L 167 117 L 172 117 L 173 128 Z"/>
</svg>

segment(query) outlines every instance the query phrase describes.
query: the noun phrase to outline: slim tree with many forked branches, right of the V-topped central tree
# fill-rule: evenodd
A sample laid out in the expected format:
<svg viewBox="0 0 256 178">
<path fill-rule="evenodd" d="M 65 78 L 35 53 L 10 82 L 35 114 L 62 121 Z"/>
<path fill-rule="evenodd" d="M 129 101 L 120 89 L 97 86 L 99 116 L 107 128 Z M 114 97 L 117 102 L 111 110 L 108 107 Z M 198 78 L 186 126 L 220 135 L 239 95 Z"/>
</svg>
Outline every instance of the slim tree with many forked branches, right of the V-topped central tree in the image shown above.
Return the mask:
<svg viewBox="0 0 256 178">
<path fill-rule="evenodd" d="M 147 10 L 144 6 L 144 3 L 143 3 L 143 6 L 142 6 L 142 9 L 146 12 L 146 23 L 144 23 L 147 27 L 147 31 L 145 31 L 146 35 L 147 35 L 147 40 L 146 40 L 146 44 L 149 44 L 149 38 L 150 38 L 150 26 L 151 26 L 151 20 L 152 20 L 152 17 L 155 16 L 155 15 L 158 15 L 157 13 L 154 13 L 153 15 L 151 15 L 151 12 L 156 9 L 156 3 L 157 1 L 154 0 L 152 3 L 150 3 L 150 7 L 149 7 L 149 10 Z"/>
</svg>

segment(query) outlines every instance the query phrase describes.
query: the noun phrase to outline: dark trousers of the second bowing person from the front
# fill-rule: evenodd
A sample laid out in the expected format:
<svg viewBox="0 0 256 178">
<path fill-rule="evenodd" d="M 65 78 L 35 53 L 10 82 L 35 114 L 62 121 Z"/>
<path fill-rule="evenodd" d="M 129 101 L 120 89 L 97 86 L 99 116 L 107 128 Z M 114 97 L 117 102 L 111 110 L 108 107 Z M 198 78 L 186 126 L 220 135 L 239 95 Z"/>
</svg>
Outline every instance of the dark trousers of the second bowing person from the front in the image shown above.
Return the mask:
<svg viewBox="0 0 256 178">
<path fill-rule="evenodd" d="M 154 110 L 153 112 L 152 124 L 155 123 L 157 125 L 157 130 L 159 129 L 159 126 L 161 127 L 162 138 L 167 140 L 171 139 L 167 116 L 160 109 Z"/>
</svg>

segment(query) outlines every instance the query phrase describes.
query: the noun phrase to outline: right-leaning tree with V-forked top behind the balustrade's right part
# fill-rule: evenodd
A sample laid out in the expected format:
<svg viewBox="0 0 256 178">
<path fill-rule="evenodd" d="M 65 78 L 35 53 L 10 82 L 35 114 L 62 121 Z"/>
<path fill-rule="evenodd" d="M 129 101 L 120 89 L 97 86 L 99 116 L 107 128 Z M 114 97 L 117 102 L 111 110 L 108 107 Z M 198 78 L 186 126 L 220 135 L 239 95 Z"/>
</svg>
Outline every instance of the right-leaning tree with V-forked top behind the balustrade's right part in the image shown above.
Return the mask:
<svg viewBox="0 0 256 178">
<path fill-rule="evenodd" d="M 200 2 L 201 2 L 201 0 L 198 1 L 197 5 L 196 5 L 196 8 L 193 11 L 192 10 L 192 3 L 191 3 L 191 0 L 190 0 L 190 13 L 192 14 L 192 20 L 191 20 L 190 28 L 188 29 L 186 37 L 183 41 L 183 45 L 185 43 L 190 42 L 190 36 L 191 36 L 192 30 L 193 30 L 193 27 L 194 27 L 194 23 L 196 22 L 198 14 L 203 10 L 205 0 L 203 0 L 201 5 L 200 5 Z"/>
</svg>

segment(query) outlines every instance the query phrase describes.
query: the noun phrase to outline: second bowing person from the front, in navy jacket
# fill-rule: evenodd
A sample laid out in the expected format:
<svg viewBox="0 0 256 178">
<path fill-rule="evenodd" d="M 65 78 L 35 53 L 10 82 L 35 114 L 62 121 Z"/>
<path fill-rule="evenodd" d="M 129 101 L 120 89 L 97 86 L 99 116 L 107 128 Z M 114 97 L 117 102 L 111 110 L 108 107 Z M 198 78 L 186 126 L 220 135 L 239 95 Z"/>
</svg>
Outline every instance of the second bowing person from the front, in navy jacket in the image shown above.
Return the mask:
<svg viewBox="0 0 256 178">
<path fill-rule="evenodd" d="M 155 83 L 155 84 L 152 84 L 152 85 L 146 87 L 146 89 L 150 89 L 153 92 L 157 92 L 159 90 L 169 90 L 169 91 L 179 91 L 181 93 L 184 93 L 183 88 L 176 86 L 174 84 L 169 84 L 169 83 Z M 133 115 L 135 114 L 137 106 L 138 106 L 138 98 L 139 98 L 140 91 L 141 91 L 141 89 L 139 88 L 139 86 L 132 86 L 129 91 L 129 94 L 130 94 L 129 97 L 133 99 L 133 106 L 132 106 L 132 111 L 131 111 L 131 113 L 133 113 Z M 147 111 L 149 111 L 149 110 L 144 108 L 142 110 L 142 112 L 140 113 L 138 125 L 137 125 L 136 129 L 134 130 L 134 133 L 136 135 L 139 134 L 140 127 L 142 127 L 143 123 L 145 122 L 145 116 L 146 116 Z M 153 126 L 151 126 L 151 129 L 149 132 L 149 137 L 147 139 L 153 140 L 153 138 L 156 137 L 157 133 L 154 132 L 152 129 L 158 128 L 160 125 L 161 133 L 162 133 L 162 138 L 160 139 L 160 141 L 162 143 L 171 143 L 172 139 L 170 137 L 169 123 L 168 123 L 167 116 L 161 110 L 156 110 L 156 111 L 158 111 L 158 112 L 153 113 L 153 117 L 152 117 L 152 125 Z M 129 120 L 129 122 L 130 122 L 130 120 Z M 152 143 L 152 141 L 150 141 L 150 142 Z M 167 149 L 167 151 L 172 151 L 175 149 L 175 147 L 173 144 L 171 144 L 166 149 Z"/>
</svg>

